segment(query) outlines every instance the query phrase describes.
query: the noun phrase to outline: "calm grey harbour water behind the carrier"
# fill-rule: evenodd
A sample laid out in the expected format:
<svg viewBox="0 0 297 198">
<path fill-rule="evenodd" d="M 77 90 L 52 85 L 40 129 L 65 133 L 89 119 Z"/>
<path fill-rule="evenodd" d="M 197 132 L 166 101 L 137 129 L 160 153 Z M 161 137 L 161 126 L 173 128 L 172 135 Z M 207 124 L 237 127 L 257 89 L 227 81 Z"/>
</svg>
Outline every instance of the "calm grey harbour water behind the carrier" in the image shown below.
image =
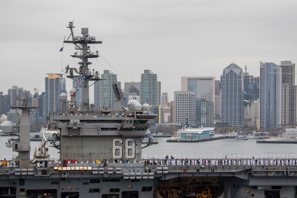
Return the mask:
<svg viewBox="0 0 297 198">
<path fill-rule="evenodd" d="M 18 155 L 17 152 L 12 152 L 11 148 L 6 147 L 5 142 L 10 137 L 0 137 L 0 149 L 2 156 L 0 156 L 0 159 L 3 158 L 3 156 L 11 156 L 12 155 Z M 206 154 L 206 156 L 210 156 L 210 158 L 214 157 L 214 154 L 217 158 L 219 158 L 219 155 L 221 154 L 224 156 L 225 154 L 228 156 L 231 154 L 241 154 L 241 158 L 244 157 L 244 154 L 248 155 L 257 155 L 261 156 L 263 154 L 280 154 L 282 158 L 282 154 L 285 154 L 285 157 L 287 154 L 291 156 L 291 153 L 297 155 L 297 144 L 257 144 L 256 140 L 234 140 L 234 139 L 223 139 L 223 140 L 215 140 L 215 141 L 209 141 L 209 142 L 198 142 L 198 143 L 190 143 L 190 142 L 166 142 L 168 140 L 168 137 L 159 137 L 155 138 L 158 140 L 157 145 L 149 146 L 142 150 L 142 157 L 144 158 L 144 154 L 146 154 L 147 158 L 149 155 L 152 155 L 154 157 L 155 155 L 160 157 L 160 155 L 169 155 L 172 156 L 175 154 L 176 156 L 181 155 L 183 157 L 184 155 L 198 155 L 200 157 L 200 154 L 203 155 Z M 31 142 L 31 156 L 34 155 L 34 150 L 36 147 L 39 147 L 40 142 L 39 141 L 32 141 Z M 48 146 L 50 143 L 48 143 Z M 52 156 L 59 156 L 59 151 L 56 148 L 48 147 L 49 153 Z"/>
</svg>

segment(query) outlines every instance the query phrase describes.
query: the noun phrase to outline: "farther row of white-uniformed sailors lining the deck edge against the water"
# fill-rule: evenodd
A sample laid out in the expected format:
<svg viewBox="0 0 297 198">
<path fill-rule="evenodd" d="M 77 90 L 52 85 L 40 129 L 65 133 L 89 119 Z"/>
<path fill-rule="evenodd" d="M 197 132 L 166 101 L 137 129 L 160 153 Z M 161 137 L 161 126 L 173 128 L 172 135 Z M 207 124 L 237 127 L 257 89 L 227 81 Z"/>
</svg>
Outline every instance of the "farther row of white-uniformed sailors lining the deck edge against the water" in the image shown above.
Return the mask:
<svg viewBox="0 0 297 198">
<path fill-rule="evenodd" d="M 181 159 L 181 155 L 178 155 L 178 156 L 176 156 L 176 155 L 160 155 L 160 158 L 159 159 L 162 159 L 162 157 L 163 157 L 163 159 Z M 190 159 L 189 158 L 190 156 L 189 155 L 187 155 L 187 159 Z M 228 156 L 229 158 L 228 159 L 231 159 L 231 155 L 229 154 L 229 156 Z M 249 154 L 248 155 L 248 158 L 247 158 L 247 155 L 246 154 L 244 154 L 244 159 L 259 159 L 259 154 L 258 155 L 252 155 L 252 157 L 251 157 L 251 155 Z M 276 158 L 280 158 L 280 154 L 278 154 L 277 156 L 276 156 L 276 154 L 274 154 L 273 156 L 271 155 L 271 154 L 269 154 L 269 155 L 267 155 L 267 154 L 265 154 L 265 155 L 263 155 L 263 154 L 261 154 L 261 159 L 263 159 L 263 157 L 265 157 L 265 159 L 267 159 L 267 157 L 269 157 L 269 159 L 272 159 L 272 157 L 273 157 L 273 159 L 276 159 Z M 203 156 L 202 156 L 202 154 L 200 155 L 200 159 L 202 159 L 203 158 Z M 282 154 L 282 158 L 285 158 L 285 154 Z M 294 154 L 294 158 L 296 158 L 296 154 Z M 149 155 L 149 157 L 147 158 L 147 156 L 146 156 L 146 154 L 144 154 L 144 159 L 146 160 L 146 159 L 153 159 L 153 157 L 151 156 L 151 155 Z M 157 155 L 155 155 L 155 158 L 154 159 L 158 159 L 158 156 Z M 186 155 L 184 155 L 184 158 L 183 159 L 186 159 Z M 196 155 L 196 158 L 195 158 L 195 156 L 194 155 L 192 155 L 191 156 L 191 159 L 198 159 L 198 155 Z M 204 154 L 204 159 L 206 159 L 206 155 Z M 209 155 L 207 156 L 207 159 L 210 159 L 210 157 L 209 157 Z M 214 155 L 214 159 L 216 159 L 216 155 Z M 219 155 L 219 159 L 227 159 L 227 155 L 225 154 L 223 157 L 222 157 L 222 155 L 220 154 Z M 235 154 L 233 154 L 233 159 L 236 159 L 236 155 Z M 241 159 L 241 154 L 237 154 L 237 159 Z M 289 154 L 287 154 L 287 159 L 289 159 Z M 293 159 L 293 153 L 291 153 L 291 159 Z"/>
</svg>

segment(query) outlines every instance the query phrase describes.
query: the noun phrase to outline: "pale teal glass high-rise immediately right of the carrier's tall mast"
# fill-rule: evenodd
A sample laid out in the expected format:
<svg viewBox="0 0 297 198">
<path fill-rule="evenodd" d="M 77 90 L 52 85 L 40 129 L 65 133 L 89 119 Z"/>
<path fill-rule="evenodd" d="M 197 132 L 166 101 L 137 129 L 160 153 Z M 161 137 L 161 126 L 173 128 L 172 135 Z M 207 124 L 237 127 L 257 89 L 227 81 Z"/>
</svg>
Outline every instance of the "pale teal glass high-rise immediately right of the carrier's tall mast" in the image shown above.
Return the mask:
<svg viewBox="0 0 297 198">
<path fill-rule="evenodd" d="M 104 80 L 94 84 L 94 105 L 96 108 L 112 109 L 114 100 L 112 84 L 117 82 L 117 75 L 111 70 L 104 70 L 101 78 Z"/>
</svg>

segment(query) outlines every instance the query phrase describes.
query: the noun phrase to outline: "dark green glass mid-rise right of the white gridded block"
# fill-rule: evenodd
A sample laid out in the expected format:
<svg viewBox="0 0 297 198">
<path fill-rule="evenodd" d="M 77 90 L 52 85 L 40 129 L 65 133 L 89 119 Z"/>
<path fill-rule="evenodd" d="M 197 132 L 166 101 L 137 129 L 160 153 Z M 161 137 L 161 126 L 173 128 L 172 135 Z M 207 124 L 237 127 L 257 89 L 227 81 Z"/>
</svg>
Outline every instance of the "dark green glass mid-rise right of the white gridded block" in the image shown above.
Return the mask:
<svg viewBox="0 0 297 198">
<path fill-rule="evenodd" d="M 214 103 L 196 98 L 196 127 L 214 127 Z"/>
</svg>

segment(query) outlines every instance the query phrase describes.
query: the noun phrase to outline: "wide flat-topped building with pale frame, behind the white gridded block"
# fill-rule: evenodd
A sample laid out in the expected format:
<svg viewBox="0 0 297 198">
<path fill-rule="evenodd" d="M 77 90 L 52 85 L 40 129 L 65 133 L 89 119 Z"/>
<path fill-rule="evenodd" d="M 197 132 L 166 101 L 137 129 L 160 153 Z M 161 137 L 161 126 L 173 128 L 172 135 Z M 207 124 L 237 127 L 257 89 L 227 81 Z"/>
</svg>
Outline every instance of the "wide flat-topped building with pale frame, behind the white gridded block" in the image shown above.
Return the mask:
<svg viewBox="0 0 297 198">
<path fill-rule="evenodd" d="M 203 98 L 214 102 L 214 76 L 181 77 L 181 91 L 194 91 L 196 98 Z"/>
</svg>

